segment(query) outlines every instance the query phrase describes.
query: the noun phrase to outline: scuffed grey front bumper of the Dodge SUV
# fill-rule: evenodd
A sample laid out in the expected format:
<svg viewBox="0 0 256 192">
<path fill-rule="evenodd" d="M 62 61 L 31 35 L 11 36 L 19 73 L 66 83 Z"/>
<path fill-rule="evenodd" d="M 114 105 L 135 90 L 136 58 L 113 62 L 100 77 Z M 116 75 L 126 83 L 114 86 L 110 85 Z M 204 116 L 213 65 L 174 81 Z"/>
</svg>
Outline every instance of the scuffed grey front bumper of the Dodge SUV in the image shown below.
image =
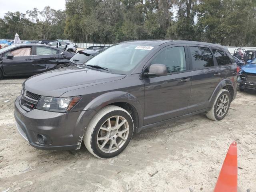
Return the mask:
<svg viewBox="0 0 256 192">
<path fill-rule="evenodd" d="M 58 113 L 34 109 L 27 112 L 21 108 L 19 100 L 20 96 L 14 105 L 17 130 L 31 146 L 43 150 L 80 148 L 94 110 Z M 45 136 L 47 142 L 42 144 L 38 135 Z"/>
</svg>

